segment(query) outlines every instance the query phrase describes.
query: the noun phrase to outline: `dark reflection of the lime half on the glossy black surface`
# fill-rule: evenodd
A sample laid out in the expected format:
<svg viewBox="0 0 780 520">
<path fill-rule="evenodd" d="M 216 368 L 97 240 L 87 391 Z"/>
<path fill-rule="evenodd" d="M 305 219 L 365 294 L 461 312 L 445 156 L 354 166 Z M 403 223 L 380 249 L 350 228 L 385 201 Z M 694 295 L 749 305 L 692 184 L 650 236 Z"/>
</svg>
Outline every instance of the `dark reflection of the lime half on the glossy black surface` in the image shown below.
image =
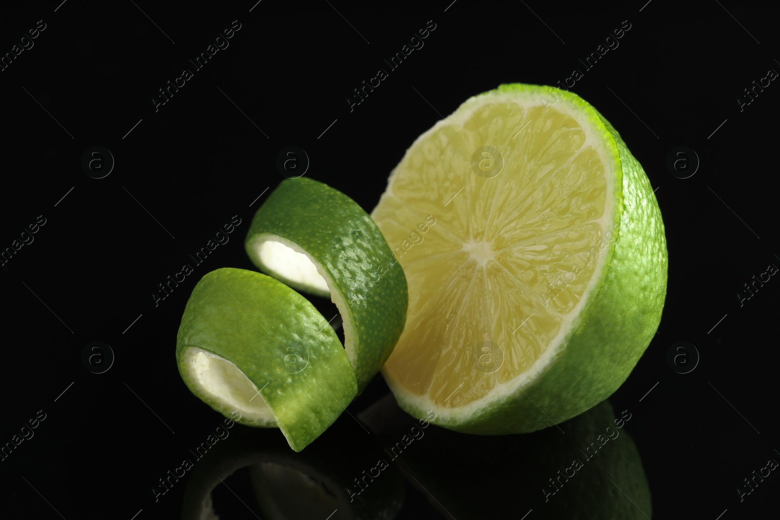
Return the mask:
<svg viewBox="0 0 780 520">
<path fill-rule="evenodd" d="M 391 395 L 360 414 L 388 448 L 422 432 L 394 463 L 446 518 L 522 518 L 533 509 L 528 518 L 646 520 L 650 487 L 626 417 L 615 419 L 603 401 L 561 423 L 565 433 L 548 428 L 496 437 L 420 429 Z"/>
</svg>

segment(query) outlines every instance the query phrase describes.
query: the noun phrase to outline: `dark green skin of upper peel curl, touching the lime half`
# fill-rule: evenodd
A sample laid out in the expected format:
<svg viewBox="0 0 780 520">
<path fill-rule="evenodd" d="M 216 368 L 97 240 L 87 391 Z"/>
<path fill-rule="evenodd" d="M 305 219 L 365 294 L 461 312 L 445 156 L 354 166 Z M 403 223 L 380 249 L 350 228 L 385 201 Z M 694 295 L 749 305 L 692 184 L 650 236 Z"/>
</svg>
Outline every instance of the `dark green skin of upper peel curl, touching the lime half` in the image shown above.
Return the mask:
<svg viewBox="0 0 780 520">
<path fill-rule="evenodd" d="M 258 269 L 317 294 L 263 264 L 258 246 L 275 237 L 305 251 L 328 283 L 342 314 L 344 346 L 362 392 L 390 356 L 406 324 L 406 276 L 385 236 L 354 200 L 302 177 L 285 179 L 268 196 L 244 243 Z"/>
</svg>

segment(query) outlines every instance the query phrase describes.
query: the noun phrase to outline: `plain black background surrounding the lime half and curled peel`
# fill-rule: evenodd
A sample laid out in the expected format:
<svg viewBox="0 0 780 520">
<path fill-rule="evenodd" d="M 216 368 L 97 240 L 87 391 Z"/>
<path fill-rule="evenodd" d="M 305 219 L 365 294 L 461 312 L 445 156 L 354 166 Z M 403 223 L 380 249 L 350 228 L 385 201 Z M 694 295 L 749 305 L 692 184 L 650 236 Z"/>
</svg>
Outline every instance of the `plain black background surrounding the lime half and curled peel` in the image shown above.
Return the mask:
<svg viewBox="0 0 780 520">
<path fill-rule="evenodd" d="M 151 487 L 222 419 L 179 377 L 179 320 L 208 271 L 254 269 L 243 237 L 284 179 L 276 167 L 282 148 L 305 150 L 307 176 L 371 211 L 406 148 L 467 97 L 500 83 L 555 85 L 580 69 L 571 90 L 612 122 L 644 165 L 666 226 L 661 326 L 610 398 L 615 411 L 633 414 L 626 430 L 644 462 L 654 516 L 729 520 L 775 511 L 774 472 L 743 501 L 736 489 L 780 459 L 780 281 L 772 276 L 742 306 L 738 293 L 769 264 L 780 266 L 780 87 L 772 81 L 741 109 L 737 98 L 768 69 L 780 71 L 777 12 L 725 1 L 695 9 L 664 0 L 450 2 L 3 7 L 3 54 L 38 20 L 46 24 L 34 47 L 0 72 L 0 248 L 38 215 L 46 222 L 0 274 L 0 443 L 46 413 L 34 437 L 0 462 L 5 508 L 30 518 L 179 517 L 186 483 L 156 502 Z M 155 111 L 158 89 L 233 20 L 241 28 L 229 47 Z M 424 47 L 350 111 L 346 97 L 387 69 L 384 59 L 429 20 L 435 29 Z M 586 70 L 580 58 L 624 20 L 630 30 L 619 47 Z M 103 179 L 81 166 L 95 146 L 115 160 Z M 666 165 L 680 146 L 700 161 L 688 179 Z M 688 157 L 690 168 L 694 162 Z M 233 215 L 242 223 L 230 241 L 155 306 L 158 284 Z M 90 341 L 111 346 L 107 372 L 85 370 Z M 690 373 L 667 362 L 676 341 L 697 348 Z M 349 411 L 355 416 L 386 392 L 378 376 Z M 347 433 L 334 449 L 347 452 L 349 428 L 365 433 L 346 414 L 339 424 Z M 509 470 L 497 467 L 491 478 Z M 225 481 L 236 494 L 215 492 L 221 518 L 255 518 L 246 507 L 260 515 L 245 480 L 237 473 Z M 527 511 L 522 494 L 512 497 L 517 518 Z M 399 518 L 437 518 L 430 501 L 407 484 Z"/>
</svg>

